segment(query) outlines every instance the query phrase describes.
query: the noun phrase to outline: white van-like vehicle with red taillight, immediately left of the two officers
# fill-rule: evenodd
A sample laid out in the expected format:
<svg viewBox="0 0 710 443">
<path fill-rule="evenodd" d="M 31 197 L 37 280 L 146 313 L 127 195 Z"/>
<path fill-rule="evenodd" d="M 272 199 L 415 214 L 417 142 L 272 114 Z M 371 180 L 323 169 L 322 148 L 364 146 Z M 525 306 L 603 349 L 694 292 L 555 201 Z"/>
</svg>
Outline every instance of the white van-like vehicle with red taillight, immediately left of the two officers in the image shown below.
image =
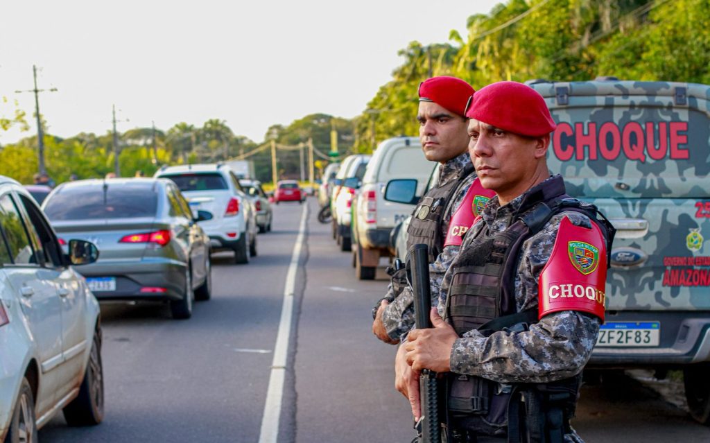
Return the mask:
<svg viewBox="0 0 710 443">
<path fill-rule="evenodd" d="M 412 204 L 386 201 L 387 182 L 414 178 L 419 182 L 417 195 L 422 195 L 431 172 L 432 163 L 425 158 L 417 137 L 389 138 L 377 147 L 353 204 L 353 265 L 359 280 L 375 278 L 380 258 L 390 256 L 390 231 L 414 209 Z"/>
</svg>

